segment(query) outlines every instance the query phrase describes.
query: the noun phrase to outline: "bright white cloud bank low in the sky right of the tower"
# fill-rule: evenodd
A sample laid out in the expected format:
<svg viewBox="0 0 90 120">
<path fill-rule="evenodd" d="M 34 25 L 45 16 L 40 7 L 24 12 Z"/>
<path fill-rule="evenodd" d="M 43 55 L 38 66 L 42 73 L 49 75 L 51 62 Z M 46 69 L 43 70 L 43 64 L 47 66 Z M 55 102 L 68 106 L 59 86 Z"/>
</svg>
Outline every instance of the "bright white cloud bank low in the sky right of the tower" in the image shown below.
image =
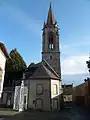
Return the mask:
<svg viewBox="0 0 90 120">
<path fill-rule="evenodd" d="M 88 55 L 67 57 L 61 61 L 62 74 L 88 73 L 87 60 Z"/>
</svg>

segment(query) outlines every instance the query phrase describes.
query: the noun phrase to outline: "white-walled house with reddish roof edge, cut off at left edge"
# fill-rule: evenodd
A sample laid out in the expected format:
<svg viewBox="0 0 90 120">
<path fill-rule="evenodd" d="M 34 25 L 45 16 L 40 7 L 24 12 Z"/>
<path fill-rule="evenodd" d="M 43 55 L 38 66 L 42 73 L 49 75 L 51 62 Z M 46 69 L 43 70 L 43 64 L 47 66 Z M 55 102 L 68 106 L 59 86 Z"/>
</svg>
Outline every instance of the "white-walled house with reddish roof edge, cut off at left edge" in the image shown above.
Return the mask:
<svg viewBox="0 0 90 120">
<path fill-rule="evenodd" d="M 0 99 L 3 92 L 6 59 L 9 57 L 5 45 L 0 42 Z"/>
</svg>

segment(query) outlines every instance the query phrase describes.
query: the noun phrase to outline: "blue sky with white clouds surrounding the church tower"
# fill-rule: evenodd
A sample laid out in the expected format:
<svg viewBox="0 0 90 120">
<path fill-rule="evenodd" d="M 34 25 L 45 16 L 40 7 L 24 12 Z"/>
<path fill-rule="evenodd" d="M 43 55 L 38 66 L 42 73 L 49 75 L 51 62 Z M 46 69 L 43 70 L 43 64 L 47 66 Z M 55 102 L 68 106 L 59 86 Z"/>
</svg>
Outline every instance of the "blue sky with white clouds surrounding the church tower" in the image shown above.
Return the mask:
<svg viewBox="0 0 90 120">
<path fill-rule="evenodd" d="M 0 40 L 8 52 L 17 48 L 27 65 L 41 61 L 42 28 L 50 0 L 0 0 Z M 61 71 L 88 73 L 90 0 L 52 0 L 60 28 Z"/>
</svg>

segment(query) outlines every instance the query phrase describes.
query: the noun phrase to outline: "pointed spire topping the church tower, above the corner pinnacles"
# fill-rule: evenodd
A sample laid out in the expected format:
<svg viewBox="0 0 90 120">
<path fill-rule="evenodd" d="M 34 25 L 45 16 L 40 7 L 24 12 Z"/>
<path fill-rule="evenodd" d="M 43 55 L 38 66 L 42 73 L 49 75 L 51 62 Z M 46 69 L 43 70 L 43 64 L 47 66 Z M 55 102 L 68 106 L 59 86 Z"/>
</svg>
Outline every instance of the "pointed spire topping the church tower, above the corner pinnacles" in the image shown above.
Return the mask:
<svg viewBox="0 0 90 120">
<path fill-rule="evenodd" d="M 54 23 L 55 23 L 55 19 L 54 19 L 54 15 L 53 15 L 53 12 L 52 12 L 52 3 L 50 2 L 47 24 L 54 24 Z"/>
</svg>

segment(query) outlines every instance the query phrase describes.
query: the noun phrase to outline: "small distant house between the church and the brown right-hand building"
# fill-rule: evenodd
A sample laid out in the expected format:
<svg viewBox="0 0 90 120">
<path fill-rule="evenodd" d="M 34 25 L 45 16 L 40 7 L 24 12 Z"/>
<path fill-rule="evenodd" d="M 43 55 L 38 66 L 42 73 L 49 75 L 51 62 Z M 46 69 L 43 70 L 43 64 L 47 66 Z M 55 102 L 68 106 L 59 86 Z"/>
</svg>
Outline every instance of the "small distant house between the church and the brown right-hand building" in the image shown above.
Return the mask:
<svg viewBox="0 0 90 120">
<path fill-rule="evenodd" d="M 62 85 L 64 102 L 72 102 L 73 84 Z"/>
</svg>

